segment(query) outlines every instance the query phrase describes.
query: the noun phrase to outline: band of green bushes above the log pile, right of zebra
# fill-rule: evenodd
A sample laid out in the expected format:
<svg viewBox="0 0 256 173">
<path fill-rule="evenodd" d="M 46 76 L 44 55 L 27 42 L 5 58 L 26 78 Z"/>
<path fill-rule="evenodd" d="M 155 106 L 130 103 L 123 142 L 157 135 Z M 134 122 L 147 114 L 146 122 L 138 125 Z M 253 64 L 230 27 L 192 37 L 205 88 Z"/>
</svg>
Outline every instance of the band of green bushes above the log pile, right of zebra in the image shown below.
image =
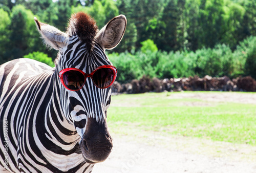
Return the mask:
<svg viewBox="0 0 256 173">
<path fill-rule="evenodd" d="M 162 52 L 151 50 L 136 53 L 110 54 L 110 60 L 118 68 L 117 81 L 128 83 L 144 75 L 150 78 L 180 78 L 206 75 L 236 78 L 250 75 L 256 78 L 256 37 L 240 43 L 236 51 L 229 46 L 217 45 L 214 49 L 196 52 Z"/>
</svg>

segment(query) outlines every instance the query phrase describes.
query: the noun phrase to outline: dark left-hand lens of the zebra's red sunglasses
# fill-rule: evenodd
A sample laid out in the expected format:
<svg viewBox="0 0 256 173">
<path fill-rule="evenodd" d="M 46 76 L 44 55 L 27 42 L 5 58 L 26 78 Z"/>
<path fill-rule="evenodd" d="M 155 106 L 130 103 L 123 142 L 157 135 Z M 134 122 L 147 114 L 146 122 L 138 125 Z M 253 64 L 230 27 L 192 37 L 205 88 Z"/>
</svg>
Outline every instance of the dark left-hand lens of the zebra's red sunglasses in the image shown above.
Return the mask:
<svg viewBox="0 0 256 173">
<path fill-rule="evenodd" d="M 81 72 L 70 70 L 63 74 L 63 82 L 68 89 L 76 91 L 82 88 L 84 75 Z"/>
</svg>

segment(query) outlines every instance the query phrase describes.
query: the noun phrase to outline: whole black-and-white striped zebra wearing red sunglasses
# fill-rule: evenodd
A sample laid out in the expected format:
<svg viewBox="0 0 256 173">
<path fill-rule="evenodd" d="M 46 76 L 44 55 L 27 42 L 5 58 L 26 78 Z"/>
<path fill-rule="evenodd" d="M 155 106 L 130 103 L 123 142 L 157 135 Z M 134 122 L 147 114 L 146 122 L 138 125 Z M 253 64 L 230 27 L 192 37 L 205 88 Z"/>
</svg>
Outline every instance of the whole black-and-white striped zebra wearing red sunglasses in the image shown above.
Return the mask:
<svg viewBox="0 0 256 173">
<path fill-rule="evenodd" d="M 113 147 L 106 124 L 117 70 L 105 54 L 126 28 L 124 15 L 101 30 L 72 14 L 66 32 L 41 23 L 55 67 L 20 58 L 0 66 L 0 172 L 91 172 Z"/>
</svg>

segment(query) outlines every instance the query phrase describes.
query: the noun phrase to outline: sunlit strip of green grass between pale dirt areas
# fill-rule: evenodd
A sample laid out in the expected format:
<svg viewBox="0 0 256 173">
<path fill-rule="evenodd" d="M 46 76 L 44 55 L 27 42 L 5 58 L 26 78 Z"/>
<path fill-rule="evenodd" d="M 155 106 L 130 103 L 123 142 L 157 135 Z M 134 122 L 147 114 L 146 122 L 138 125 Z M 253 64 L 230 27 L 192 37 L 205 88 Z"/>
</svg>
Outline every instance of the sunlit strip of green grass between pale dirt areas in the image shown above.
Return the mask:
<svg viewBox="0 0 256 173">
<path fill-rule="evenodd" d="M 113 96 L 108 124 L 112 129 L 122 129 L 120 133 L 133 128 L 256 145 L 256 104 L 172 97 L 179 94 Z"/>
</svg>

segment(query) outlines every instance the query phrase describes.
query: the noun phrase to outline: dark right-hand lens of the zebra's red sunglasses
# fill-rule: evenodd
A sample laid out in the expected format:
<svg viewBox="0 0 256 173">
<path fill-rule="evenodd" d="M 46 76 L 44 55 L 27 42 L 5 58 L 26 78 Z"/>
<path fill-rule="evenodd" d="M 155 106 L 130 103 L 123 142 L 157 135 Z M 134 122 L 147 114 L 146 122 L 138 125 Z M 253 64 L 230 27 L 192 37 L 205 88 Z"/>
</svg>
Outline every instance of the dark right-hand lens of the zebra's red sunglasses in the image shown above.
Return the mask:
<svg viewBox="0 0 256 173">
<path fill-rule="evenodd" d="M 108 88 L 114 80 L 114 70 L 102 68 L 93 74 L 93 81 L 98 88 Z"/>
</svg>

